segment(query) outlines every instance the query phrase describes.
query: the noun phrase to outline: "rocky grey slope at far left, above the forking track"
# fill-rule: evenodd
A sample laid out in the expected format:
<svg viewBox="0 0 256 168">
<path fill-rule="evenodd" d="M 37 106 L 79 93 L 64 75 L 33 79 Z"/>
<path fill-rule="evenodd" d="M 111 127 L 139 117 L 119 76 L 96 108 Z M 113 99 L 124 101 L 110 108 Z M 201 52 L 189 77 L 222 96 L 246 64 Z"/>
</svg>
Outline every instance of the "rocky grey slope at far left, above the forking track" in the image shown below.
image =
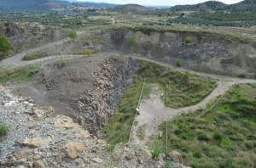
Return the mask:
<svg viewBox="0 0 256 168">
<path fill-rule="evenodd" d="M 8 37 L 12 43 L 12 52 L 18 53 L 67 37 L 68 30 L 38 23 L 9 22 L 0 25 L 0 35 Z"/>
</svg>

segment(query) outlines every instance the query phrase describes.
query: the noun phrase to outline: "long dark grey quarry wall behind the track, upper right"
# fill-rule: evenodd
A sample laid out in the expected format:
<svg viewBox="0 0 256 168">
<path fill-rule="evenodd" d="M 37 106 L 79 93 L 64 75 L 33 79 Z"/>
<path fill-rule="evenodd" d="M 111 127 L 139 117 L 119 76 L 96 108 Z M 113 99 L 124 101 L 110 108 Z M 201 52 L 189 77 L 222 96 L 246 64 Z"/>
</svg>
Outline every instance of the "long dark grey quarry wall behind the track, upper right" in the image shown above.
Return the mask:
<svg viewBox="0 0 256 168">
<path fill-rule="evenodd" d="M 169 64 L 182 60 L 183 67 L 228 75 L 255 76 L 256 48 L 234 39 L 204 33 L 119 30 L 108 32 L 112 45 L 123 53 L 137 53 Z M 131 41 L 131 36 L 133 40 Z M 185 43 L 189 36 L 191 42 Z M 105 48 L 105 49 L 108 49 Z"/>
</svg>

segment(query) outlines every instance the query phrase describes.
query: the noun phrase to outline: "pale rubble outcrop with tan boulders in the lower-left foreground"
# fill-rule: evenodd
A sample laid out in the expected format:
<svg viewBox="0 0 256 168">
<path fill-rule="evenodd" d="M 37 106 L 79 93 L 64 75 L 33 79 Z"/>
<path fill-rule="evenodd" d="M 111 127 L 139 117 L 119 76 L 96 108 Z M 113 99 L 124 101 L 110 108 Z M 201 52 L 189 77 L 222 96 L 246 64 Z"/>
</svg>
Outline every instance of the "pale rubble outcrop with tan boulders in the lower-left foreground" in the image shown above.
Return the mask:
<svg viewBox="0 0 256 168">
<path fill-rule="evenodd" d="M 35 104 L 24 99 L 0 87 L 0 123 L 9 126 L 0 143 L 0 167 L 104 167 L 105 161 L 93 161 L 107 158 L 104 141 L 65 115 L 33 117 Z"/>
</svg>

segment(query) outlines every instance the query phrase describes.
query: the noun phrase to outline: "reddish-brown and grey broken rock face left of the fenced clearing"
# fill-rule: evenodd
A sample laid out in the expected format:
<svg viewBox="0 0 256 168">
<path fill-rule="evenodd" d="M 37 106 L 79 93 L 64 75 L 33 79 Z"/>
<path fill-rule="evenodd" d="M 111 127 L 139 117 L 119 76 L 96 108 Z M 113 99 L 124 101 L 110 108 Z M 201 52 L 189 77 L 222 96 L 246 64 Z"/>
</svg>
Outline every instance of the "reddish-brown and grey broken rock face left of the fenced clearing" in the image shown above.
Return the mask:
<svg viewBox="0 0 256 168">
<path fill-rule="evenodd" d="M 119 108 L 126 87 L 130 87 L 132 76 L 139 66 L 137 60 L 111 57 L 99 64 L 94 72 L 92 87 L 80 95 L 77 101 L 79 122 L 96 134 Z"/>
</svg>

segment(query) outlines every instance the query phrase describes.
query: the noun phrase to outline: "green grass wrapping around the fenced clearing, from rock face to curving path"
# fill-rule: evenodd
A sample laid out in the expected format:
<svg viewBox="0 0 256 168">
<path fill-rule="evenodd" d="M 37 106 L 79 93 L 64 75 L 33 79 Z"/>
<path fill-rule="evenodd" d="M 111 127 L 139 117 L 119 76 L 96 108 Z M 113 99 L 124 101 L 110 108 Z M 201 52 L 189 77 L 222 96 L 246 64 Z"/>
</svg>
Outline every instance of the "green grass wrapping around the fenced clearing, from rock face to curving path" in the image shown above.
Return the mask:
<svg viewBox="0 0 256 168">
<path fill-rule="evenodd" d="M 126 90 L 119 104 L 119 110 L 108 121 L 108 125 L 102 129 L 102 132 L 107 134 L 108 143 L 116 144 L 128 141 L 144 79 L 147 84 L 158 84 L 161 92 L 166 92 L 167 83 L 168 103 L 166 105 L 173 108 L 196 104 L 211 91 L 215 84 L 215 81 L 208 77 L 195 76 L 189 72 L 178 72 L 158 64 L 142 61 L 141 67 L 134 76 L 134 85 Z M 144 98 L 150 92 L 148 86 L 144 87 Z M 166 101 L 165 98 L 163 101 Z"/>
</svg>

